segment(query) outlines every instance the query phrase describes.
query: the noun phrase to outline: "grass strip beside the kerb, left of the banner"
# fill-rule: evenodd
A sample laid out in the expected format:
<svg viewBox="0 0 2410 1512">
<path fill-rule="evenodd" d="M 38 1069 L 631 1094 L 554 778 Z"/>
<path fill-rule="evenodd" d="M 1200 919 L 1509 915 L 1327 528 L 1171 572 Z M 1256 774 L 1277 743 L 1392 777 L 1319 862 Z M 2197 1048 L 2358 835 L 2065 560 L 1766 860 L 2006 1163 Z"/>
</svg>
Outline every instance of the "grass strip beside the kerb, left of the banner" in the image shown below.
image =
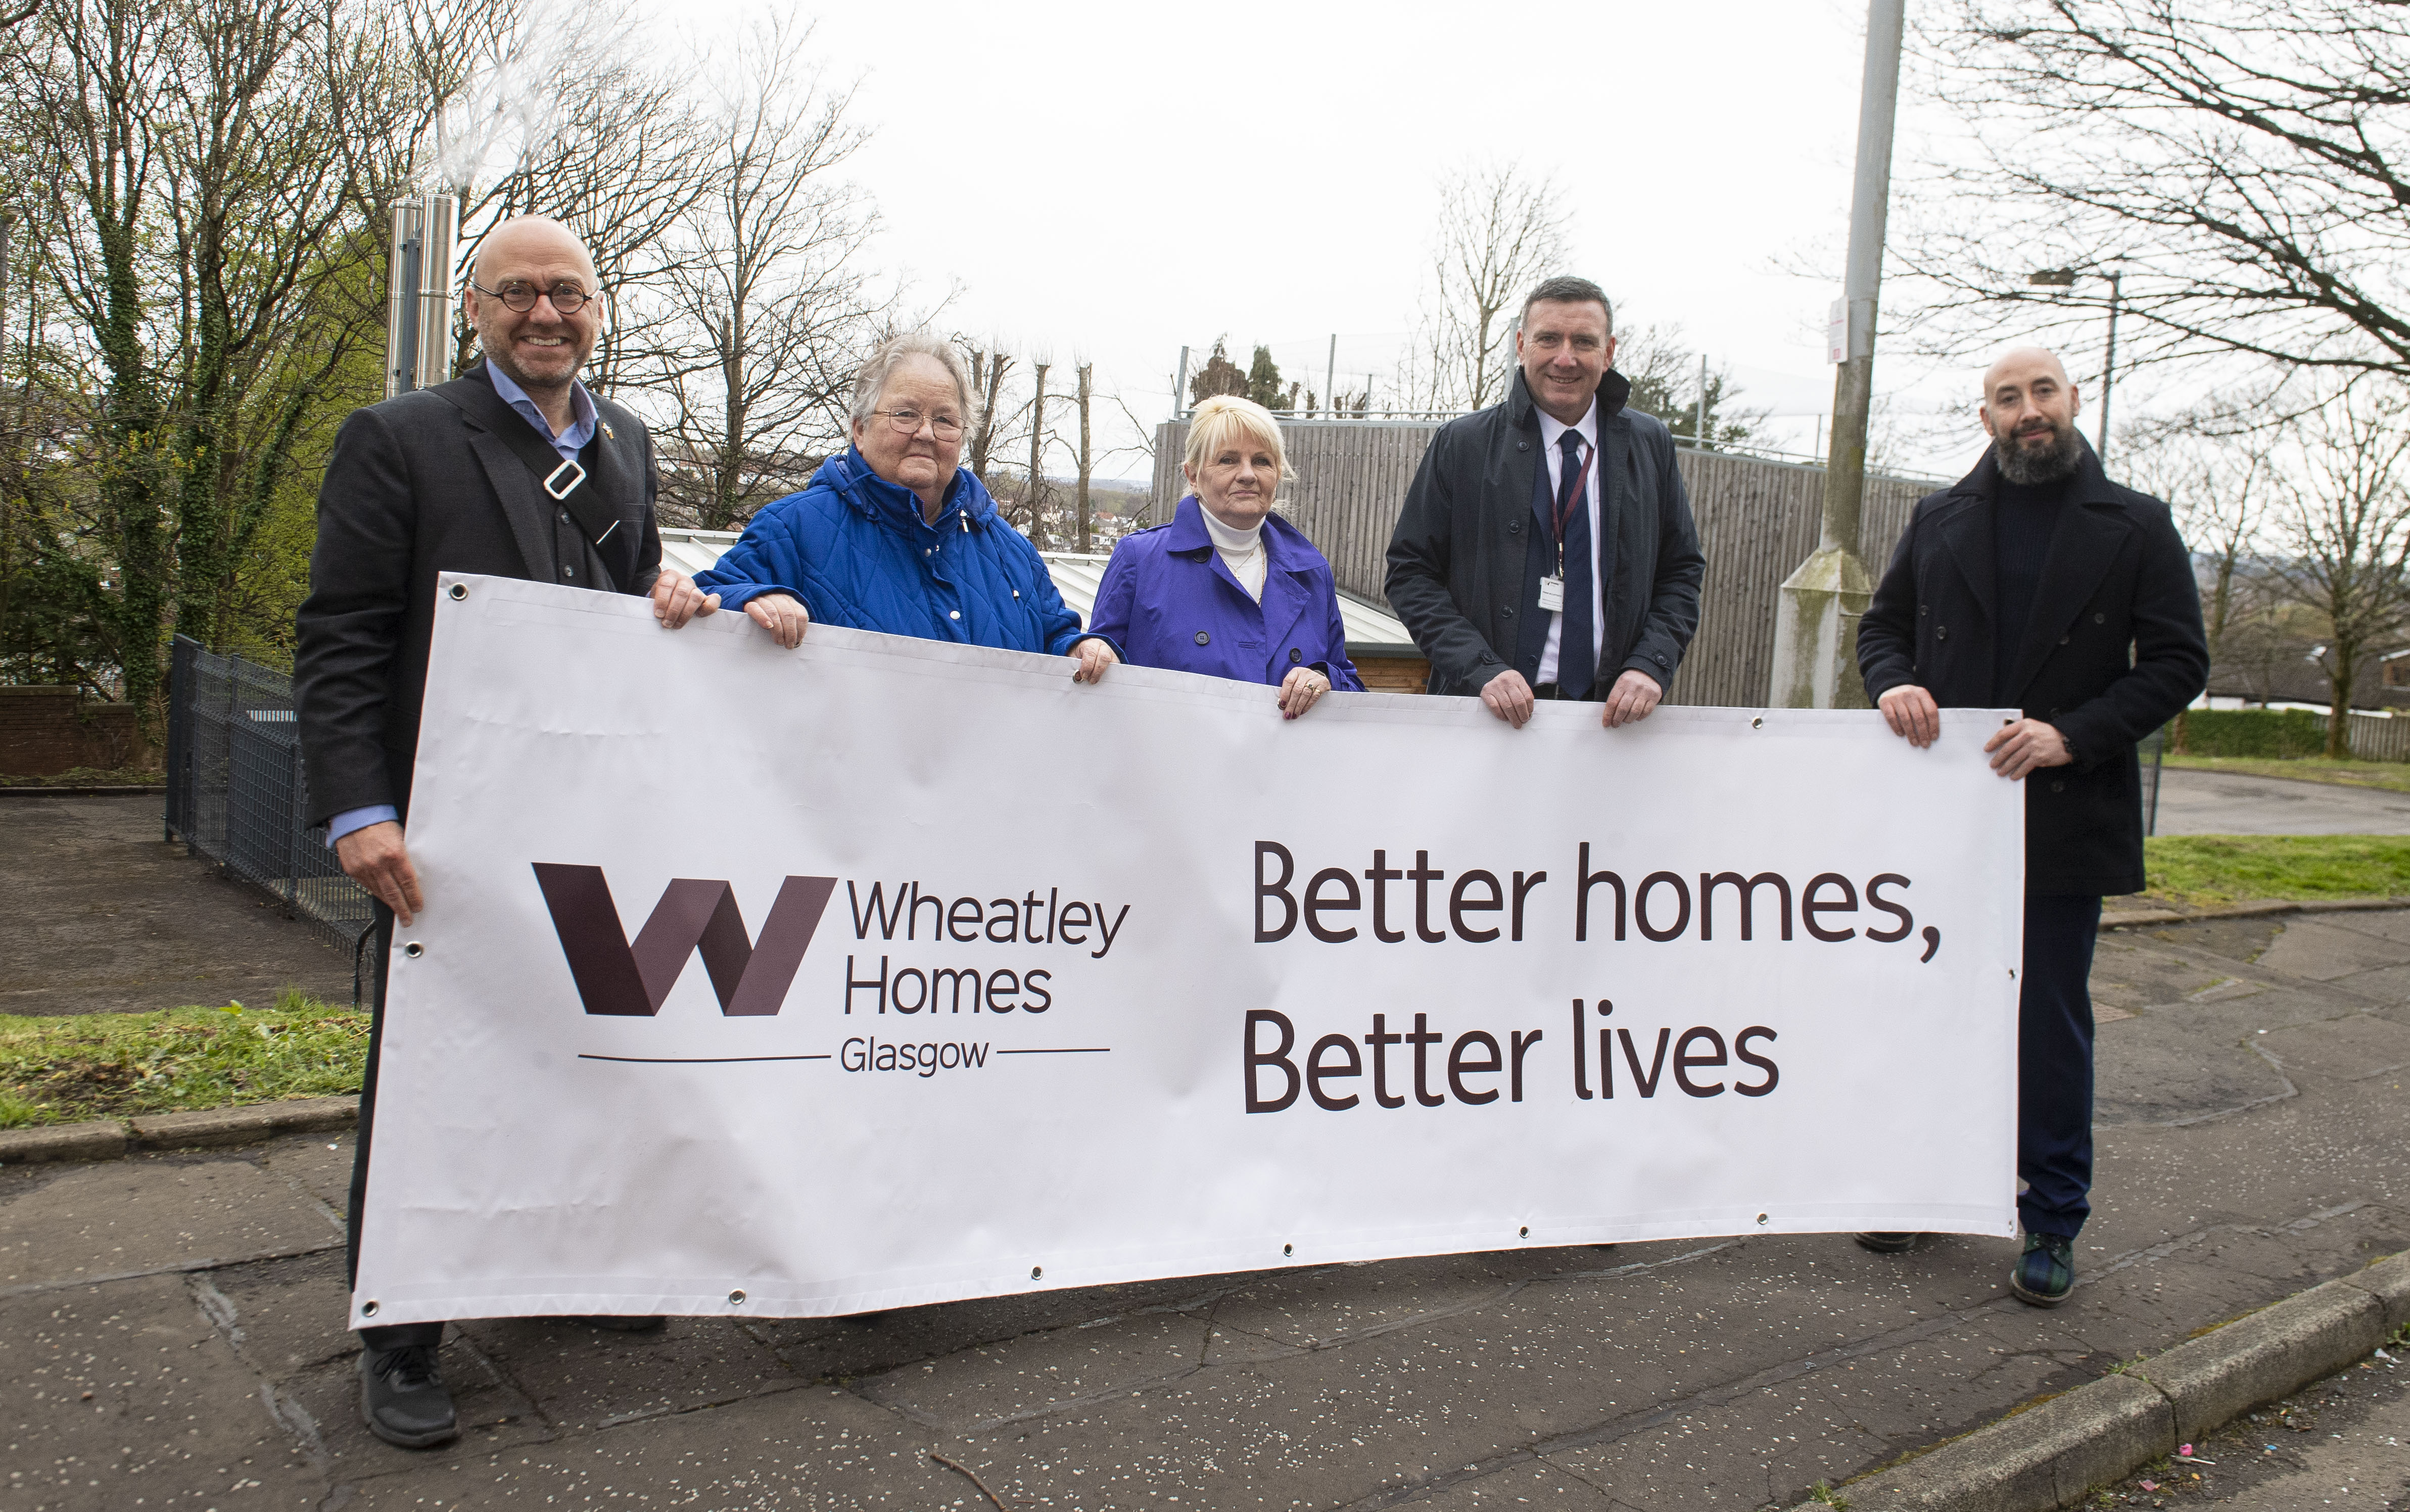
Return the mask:
<svg viewBox="0 0 2410 1512">
<path fill-rule="evenodd" d="M 275 1008 L 0 1015 L 0 1129 L 359 1090 L 369 1015 L 287 991 Z"/>
</svg>

